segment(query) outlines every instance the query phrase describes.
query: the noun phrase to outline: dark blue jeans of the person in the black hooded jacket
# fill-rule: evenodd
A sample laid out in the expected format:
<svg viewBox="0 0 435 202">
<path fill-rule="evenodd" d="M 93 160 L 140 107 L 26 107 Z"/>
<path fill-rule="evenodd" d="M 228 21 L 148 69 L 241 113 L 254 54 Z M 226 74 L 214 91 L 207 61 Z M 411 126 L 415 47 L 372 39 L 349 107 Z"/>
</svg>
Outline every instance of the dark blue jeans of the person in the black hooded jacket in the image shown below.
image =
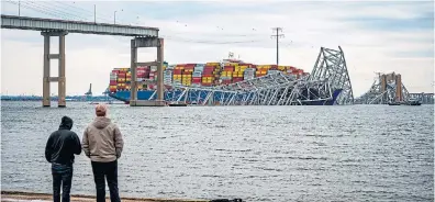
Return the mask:
<svg viewBox="0 0 435 202">
<path fill-rule="evenodd" d="M 69 192 L 72 181 L 72 165 L 52 164 L 53 175 L 53 201 L 60 202 L 60 184 L 62 201 L 69 202 Z"/>
</svg>

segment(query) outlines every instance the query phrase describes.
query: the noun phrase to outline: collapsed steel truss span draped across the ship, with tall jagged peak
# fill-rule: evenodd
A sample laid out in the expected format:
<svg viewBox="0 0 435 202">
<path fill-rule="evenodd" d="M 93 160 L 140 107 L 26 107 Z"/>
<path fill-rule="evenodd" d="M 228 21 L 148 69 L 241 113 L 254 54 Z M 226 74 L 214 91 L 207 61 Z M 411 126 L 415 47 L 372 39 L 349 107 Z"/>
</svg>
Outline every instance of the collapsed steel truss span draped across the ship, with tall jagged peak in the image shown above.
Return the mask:
<svg viewBox="0 0 435 202">
<path fill-rule="evenodd" d="M 216 87 L 172 85 L 165 100 L 191 105 L 333 105 L 353 104 L 354 96 L 342 48 L 322 47 L 309 77 L 276 72 Z"/>
</svg>

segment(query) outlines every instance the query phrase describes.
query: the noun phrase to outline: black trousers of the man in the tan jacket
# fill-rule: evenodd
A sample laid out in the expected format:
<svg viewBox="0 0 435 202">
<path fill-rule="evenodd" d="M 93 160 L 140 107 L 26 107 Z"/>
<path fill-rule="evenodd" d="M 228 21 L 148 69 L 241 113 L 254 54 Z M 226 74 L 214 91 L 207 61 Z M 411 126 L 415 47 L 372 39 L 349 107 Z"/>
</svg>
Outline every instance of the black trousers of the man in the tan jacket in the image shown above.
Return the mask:
<svg viewBox="0 0 435 202">
<path fill-rule="evenodd" d="M 93 180 L 96 181 L 97 202 L 105 201 L 105 180 L 108 180 L 110 201 L 121 201 L 118 190 L 118 161 L 96 162 L 92 161 Z"/>
</svg>

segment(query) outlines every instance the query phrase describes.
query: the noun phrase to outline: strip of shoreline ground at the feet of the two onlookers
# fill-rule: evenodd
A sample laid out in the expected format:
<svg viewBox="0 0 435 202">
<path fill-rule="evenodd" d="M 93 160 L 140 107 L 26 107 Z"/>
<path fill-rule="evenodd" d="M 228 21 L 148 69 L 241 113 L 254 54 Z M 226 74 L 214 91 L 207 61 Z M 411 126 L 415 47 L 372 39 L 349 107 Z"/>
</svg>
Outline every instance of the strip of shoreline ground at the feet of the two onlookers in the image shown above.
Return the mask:
<svg viewBox="0 0 435 202">
<path fill-rule="evenodd" d="M 210 200 L 196 200 L 196 199 L 159 199 L 159 198 L 123 198 L 125 202 L 141 201 L 141 202 L 209 202 Z M 32 193 L 32 192 L 18 192 L 18 191 L 1 191 L 1 201 L 53 201 L 52 194 L 47 193 Z M 71 194 L 70 201 L 88 202 L 96 201 L 94 197 Z M 110 201 L 108 194 L 105 201 Z"/>
</svg>

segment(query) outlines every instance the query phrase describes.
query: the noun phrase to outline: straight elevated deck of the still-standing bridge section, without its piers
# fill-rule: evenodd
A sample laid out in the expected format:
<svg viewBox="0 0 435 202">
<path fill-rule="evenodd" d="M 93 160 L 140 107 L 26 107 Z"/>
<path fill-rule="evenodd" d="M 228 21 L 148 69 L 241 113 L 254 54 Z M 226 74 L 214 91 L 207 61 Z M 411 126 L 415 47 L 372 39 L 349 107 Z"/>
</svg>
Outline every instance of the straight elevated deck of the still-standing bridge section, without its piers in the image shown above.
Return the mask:
<svg viewBox="0 0 435 202">
<path fill-rule="evenodd" d="M 2 29 L 67 31 L 68 33 L 158 37 L 158 29 L 82 21 L 65 21 L 30 16 L 1 15 Z"/>
</svg>

